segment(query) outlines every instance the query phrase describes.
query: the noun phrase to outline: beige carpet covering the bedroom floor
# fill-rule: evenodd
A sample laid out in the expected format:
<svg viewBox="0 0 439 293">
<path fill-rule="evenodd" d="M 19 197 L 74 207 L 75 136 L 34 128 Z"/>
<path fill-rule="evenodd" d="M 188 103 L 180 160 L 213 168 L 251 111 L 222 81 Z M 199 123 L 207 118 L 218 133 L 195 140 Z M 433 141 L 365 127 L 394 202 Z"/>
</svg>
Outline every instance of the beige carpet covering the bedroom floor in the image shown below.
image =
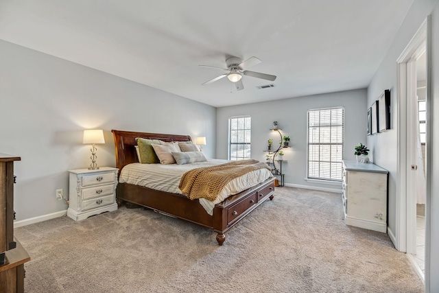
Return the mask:
<svg viewBox="0 0 439 293">
<path fill-rule="evenodd" d="M 15 229 L 26 292 L 424 292 L 388 235 L 346 226 L 340 194 L 276 188 L 226 233 L 121 208 Z"/>
</svg>

